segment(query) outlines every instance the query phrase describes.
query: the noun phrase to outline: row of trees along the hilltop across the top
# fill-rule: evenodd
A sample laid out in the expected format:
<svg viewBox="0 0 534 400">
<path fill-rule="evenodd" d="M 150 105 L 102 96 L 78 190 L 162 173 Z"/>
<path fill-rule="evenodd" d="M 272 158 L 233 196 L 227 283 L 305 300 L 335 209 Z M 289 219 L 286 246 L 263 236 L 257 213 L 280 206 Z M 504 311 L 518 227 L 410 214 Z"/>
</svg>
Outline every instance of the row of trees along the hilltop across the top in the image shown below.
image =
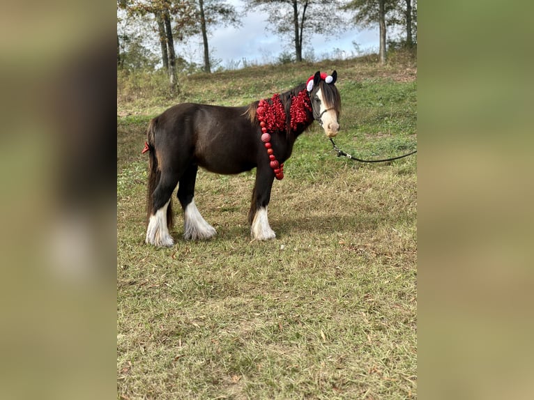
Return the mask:
<svg viewBox="0 0 534 400">
<path fill-rule="evenodd" d="M 336 35 L 347 24 L 369 28 L 378 24 L 379 60 L 386 62 L 388 29 L 400 27 L 404 33 L 401 45 L 417 44 L 417 0 L 243 0 L 244 10 L 257 10 L 268 15 L 272 33 L 291 43 L 295 61 L 303 61 L 303 44 L 311 33 Z M 201 36 L 204 50 L 204 72 L 211 72 L 208 37 L 217 26 L 241 26 L 238 10 L 227 0 L 117 0 L 117 67 L 149 62 L 141 41 L 157 36 L 160 61 L 169 75 L 172 91 L 178 89 L 176 63 L 185 60 L 176 55 L 175 41 L 186 42 Z M 119 24 L 123 27 L 119 34 Z M 137 40 L 133 40 L 137 38 Z M 128 59 L 128 52 L 135 57 Z"/>
</svg>

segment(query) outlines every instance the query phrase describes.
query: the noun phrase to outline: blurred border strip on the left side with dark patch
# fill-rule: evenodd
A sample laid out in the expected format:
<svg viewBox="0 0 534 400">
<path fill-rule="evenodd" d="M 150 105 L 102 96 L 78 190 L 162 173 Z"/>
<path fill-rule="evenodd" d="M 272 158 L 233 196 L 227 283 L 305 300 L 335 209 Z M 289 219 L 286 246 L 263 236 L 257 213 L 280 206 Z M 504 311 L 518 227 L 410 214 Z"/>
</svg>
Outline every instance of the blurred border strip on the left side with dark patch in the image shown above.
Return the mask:
<svg viewBox="0 0 534 400">
<path fill-rule="evenodd" d="M 2 399 L 116 396 L 114 13 L 2 3 Z"/>
</svg>

